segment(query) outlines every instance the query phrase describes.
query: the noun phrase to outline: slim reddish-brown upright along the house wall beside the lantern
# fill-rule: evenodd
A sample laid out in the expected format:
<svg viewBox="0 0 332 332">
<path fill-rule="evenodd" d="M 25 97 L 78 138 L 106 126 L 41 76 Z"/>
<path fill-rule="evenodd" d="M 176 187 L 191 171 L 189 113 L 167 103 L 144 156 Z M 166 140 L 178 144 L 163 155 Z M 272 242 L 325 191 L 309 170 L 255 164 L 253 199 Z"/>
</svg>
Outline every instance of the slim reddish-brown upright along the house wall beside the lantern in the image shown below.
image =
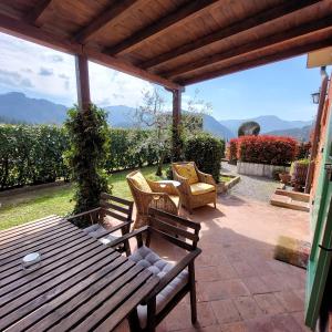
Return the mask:
<svg viewBox="0 0 332 332">
<path fill-rule="evenodd" d="M 325 96 L 329 85 L 329 76 L 326 74 L 325 68 L 321 68 L 321 76 L 322 76 L 322 84 L 320 89 L 320 101 L 317 112 L 317 118 L 315 118 L 315 125 L 313 131 L 313 138 L 312 138 L 312 146 L 311 146 L 311 155 L 310 155 L 310 165 L 307 174 L 307 180 L 305 180 L 305 188 L 304 193 L 309 194 L 311 190 L 312 179 L 313 179 L 313 173 L 314 173 L 314 166 L 315 166 L 315 158 L 318 155 L 318 148 L 320 143 L 320 136 L 321 136 L 321 122 L 322 122 L 322 115 L 325 104 Z"/>
</svg>

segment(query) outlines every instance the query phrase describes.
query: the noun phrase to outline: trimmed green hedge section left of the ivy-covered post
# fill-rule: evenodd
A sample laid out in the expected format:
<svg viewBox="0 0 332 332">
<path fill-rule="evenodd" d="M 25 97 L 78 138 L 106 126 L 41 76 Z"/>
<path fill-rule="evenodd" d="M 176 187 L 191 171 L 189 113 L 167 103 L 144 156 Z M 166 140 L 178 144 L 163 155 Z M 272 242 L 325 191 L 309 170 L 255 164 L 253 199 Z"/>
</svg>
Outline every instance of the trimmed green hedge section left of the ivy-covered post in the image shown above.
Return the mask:
<svg viewBox="0 0 332 332">
<path fill-rule="evenodd" d="M 62 154 L 68 148 L 63 128 L 0 125 L 0 188 L 44 184 L 68 178 Z"/>
</svg>

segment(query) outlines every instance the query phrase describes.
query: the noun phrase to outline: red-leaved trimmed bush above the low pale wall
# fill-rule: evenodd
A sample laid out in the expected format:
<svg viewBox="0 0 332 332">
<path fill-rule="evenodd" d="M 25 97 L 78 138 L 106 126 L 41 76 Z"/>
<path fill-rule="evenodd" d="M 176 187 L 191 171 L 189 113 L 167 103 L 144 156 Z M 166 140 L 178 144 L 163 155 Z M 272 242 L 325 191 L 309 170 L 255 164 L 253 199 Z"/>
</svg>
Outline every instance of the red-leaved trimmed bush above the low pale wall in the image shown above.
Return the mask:
<svg viewBox="0 0 332 332">
<path fill-rule="evenodd" d="M 237 158 L 241 162 L 286 165 L 294 160 L 298 143 L 282 136 L 241 136 L 237 144 Z"/>
</svg>

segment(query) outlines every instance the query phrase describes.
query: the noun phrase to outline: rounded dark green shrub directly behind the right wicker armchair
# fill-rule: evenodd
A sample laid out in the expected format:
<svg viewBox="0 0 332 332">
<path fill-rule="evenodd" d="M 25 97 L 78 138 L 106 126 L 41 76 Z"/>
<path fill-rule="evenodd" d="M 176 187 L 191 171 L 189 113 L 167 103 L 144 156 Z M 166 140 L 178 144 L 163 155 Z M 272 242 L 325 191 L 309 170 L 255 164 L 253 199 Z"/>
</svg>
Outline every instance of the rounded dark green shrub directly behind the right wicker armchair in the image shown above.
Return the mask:
<svg viewBox="0 0 332 332">
<path fill-rule="evenodd" d="M 217 183 L 224 151 L 224 141 L 206 133 L 187 138 L 184 146 L 186 160 L 195 162 L 199 170 L 211 174 Z"/>
</svg>

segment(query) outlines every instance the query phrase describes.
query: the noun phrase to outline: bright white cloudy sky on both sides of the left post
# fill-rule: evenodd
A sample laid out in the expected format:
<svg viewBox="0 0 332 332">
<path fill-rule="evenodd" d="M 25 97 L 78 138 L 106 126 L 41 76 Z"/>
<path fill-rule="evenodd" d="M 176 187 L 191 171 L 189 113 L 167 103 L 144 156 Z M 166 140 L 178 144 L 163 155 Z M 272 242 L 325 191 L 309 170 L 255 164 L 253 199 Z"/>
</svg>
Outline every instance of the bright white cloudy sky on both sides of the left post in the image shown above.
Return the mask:
<svg viewBox="0 0 332 332">
<path fill-rule="evenodd" d="M 20 86 L 28 95 L 33 92 L 65 105 L 76 103 L 74 56 L 3 33 L 0 50 L 0 80 L 7 91 Z M 149 82 L 93 62 L 89 70 L 92 101 L 102 106 L 136 107 L 142 102 L 142 91 L 153 89 Z"/>
</svg>

